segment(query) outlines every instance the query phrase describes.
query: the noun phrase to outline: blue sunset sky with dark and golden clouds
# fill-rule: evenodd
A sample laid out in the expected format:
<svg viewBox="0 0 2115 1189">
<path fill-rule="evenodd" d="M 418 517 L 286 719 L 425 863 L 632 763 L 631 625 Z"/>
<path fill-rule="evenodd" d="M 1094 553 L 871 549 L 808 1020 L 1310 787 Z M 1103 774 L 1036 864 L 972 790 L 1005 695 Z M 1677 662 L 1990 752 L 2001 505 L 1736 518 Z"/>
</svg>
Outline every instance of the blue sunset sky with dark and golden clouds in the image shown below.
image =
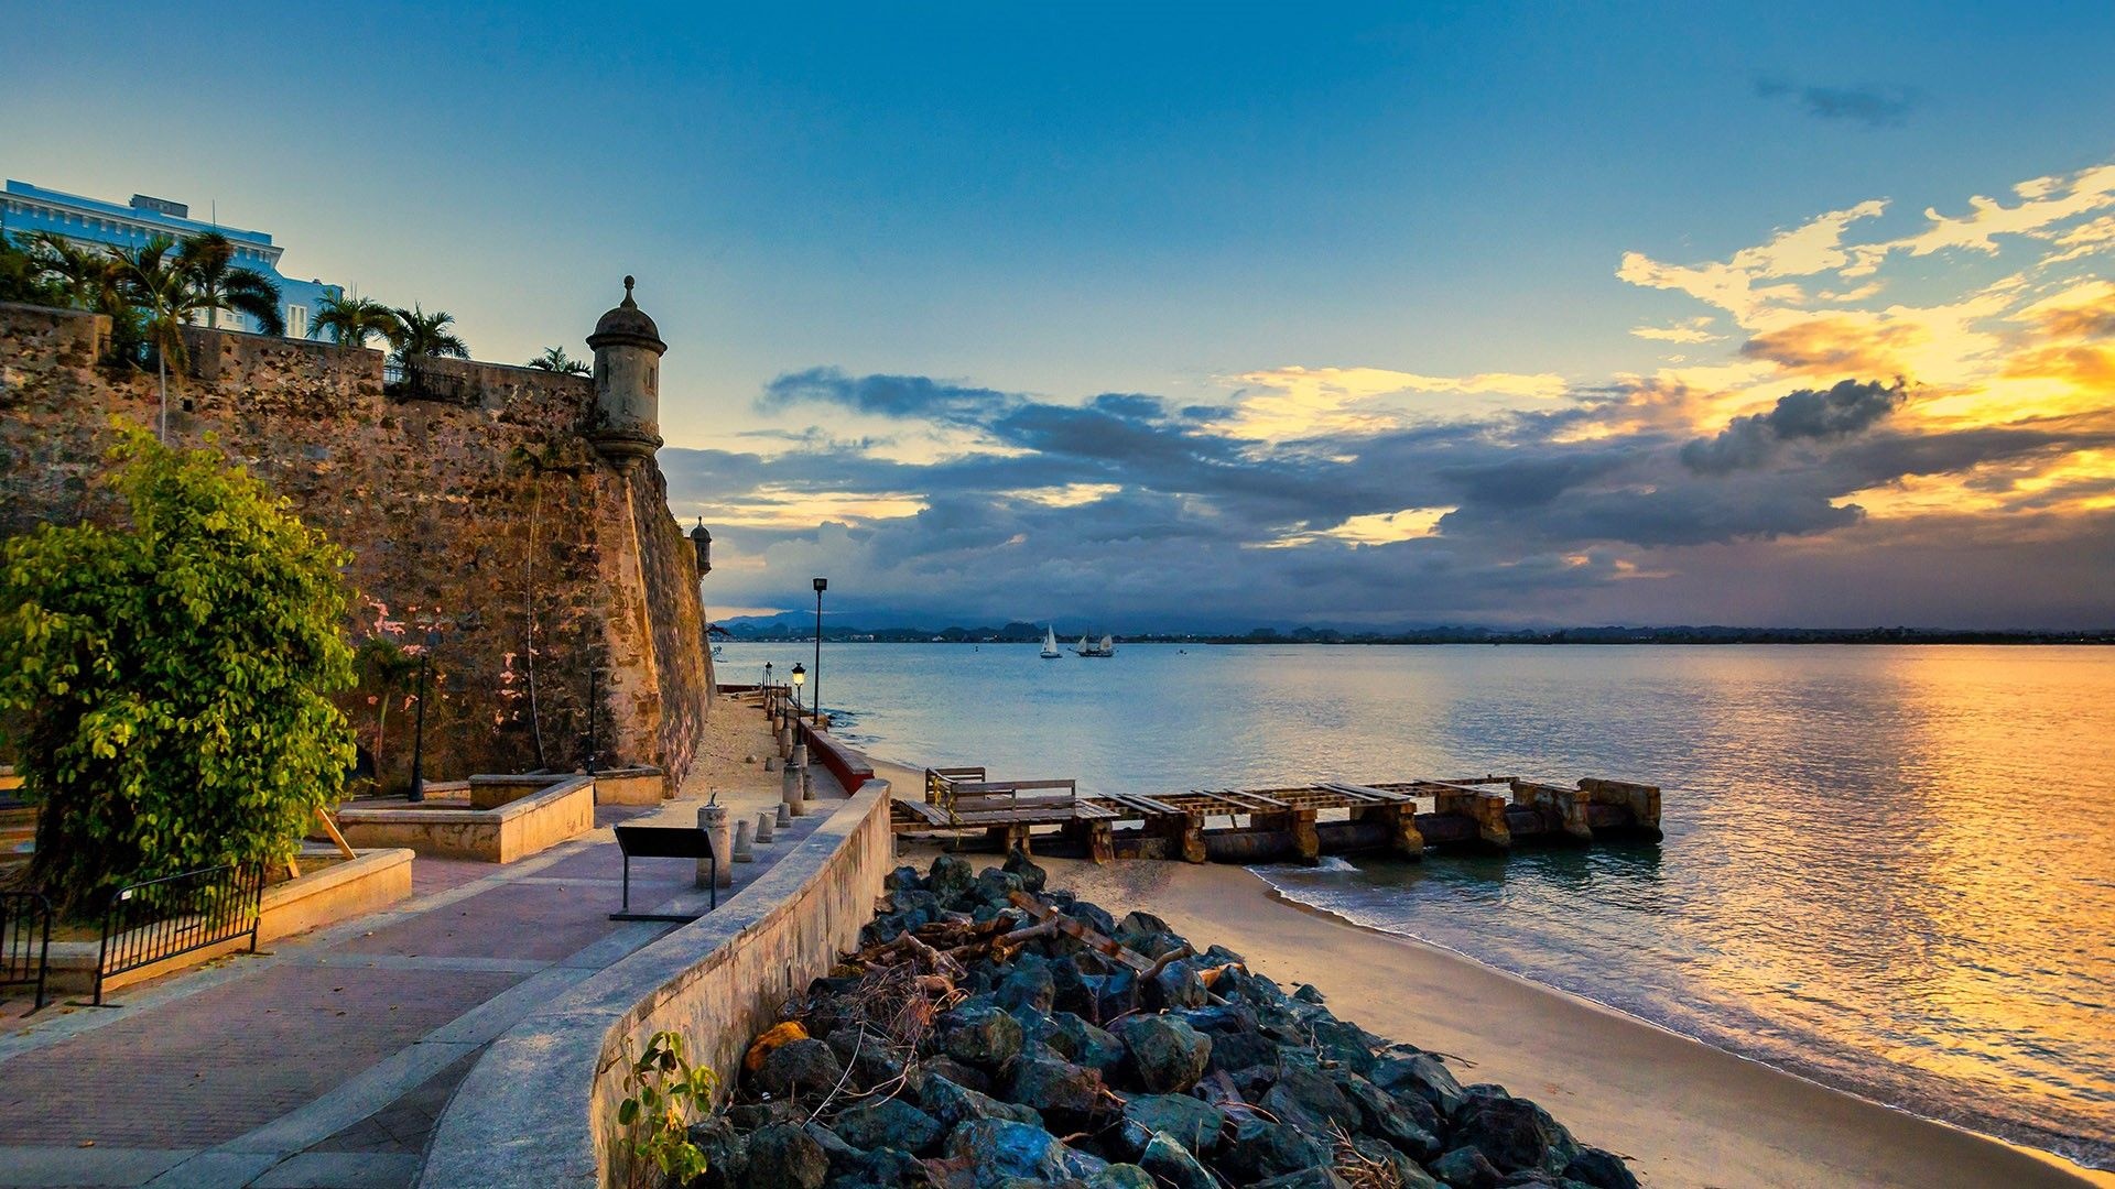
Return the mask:
<svg viewBox="0 0 2115 1189">
<path fill-rule="evenodd" d="M 2115 626 L 2115 6 L 0 0 L 0 173 L 586 351 L 713 616 Z"/>
</svg>

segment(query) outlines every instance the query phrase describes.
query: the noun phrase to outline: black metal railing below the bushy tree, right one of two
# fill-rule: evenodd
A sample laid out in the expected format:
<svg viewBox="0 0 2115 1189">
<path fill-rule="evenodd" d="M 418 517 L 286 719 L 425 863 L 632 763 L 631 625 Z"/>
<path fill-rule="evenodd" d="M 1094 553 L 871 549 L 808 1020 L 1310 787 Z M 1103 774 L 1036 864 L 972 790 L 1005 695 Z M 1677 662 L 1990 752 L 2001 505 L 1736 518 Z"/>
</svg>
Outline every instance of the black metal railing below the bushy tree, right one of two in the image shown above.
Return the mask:
<svg viewBox="0 0 2115 1189">
<path fill-rule="evenodd" d="M 250 935 L 258 948 L 264 865 L 199 867 L 118 889 L 104 910 L 104 946 L 95 963 L 95 1003 L 104 980 Z"/>
</svg>

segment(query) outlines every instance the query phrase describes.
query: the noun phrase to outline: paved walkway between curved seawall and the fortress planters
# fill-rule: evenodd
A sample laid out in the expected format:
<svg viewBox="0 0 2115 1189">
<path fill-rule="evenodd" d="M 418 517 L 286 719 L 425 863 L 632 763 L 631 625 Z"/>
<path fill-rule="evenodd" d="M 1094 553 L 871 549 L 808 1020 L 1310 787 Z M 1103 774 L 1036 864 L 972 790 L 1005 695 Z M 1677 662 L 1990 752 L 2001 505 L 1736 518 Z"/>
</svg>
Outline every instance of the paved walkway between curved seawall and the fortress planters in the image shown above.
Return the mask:
<svg viewBox="0 0 2115 1189">
<path fill-rule="evenodd" d="M 719 753 L 770 753 L 764 719 L 717 702 Z M 609 827 L 696 823 L 709 789 L 734 817 L 776 804 L 776 774 L 723 762 L 664 808 L 596 808 L 596 829 L 531 859 L 412 863 L 391 912 L 288 937 L 266 954 L 118 992 L 118 1007 L 11 1005 L 0 1035 L 0 1185 L 385 1189 L 417 1178 L 434 1119 L 478 1051 L 531 1009 L 675 925 L 615 922 Z M 821 808 L 844 791 L 821 768 Z M 766 783 L 770 791 L 766 791 Z M 736 863 L 736 889 L 821 815 Z M 721 889 L 721 897 L 732 895 Z M 632 908 L 702 912 L 681 859 L 632 863 Z"/>
</svg>

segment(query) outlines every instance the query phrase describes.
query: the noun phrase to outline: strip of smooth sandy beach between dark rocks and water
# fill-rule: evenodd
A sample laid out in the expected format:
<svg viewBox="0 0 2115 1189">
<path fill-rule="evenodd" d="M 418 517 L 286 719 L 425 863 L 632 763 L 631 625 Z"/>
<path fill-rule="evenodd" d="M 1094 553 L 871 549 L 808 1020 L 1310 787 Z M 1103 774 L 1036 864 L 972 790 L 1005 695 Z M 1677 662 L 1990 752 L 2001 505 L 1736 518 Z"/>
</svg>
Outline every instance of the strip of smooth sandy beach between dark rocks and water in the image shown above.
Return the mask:
<svg viewBox="0 0 2115 1189">
<path fill-rule="evenodd" d="M 918 772 L 882 768 L 899 795 L 918 795 Z M 933 853 L 905 846 L 907 861 Z M 1918 1119 L 1459 954 L 1307 910 L 1242 867 L 1038 863 L 1053 886 L 1110 912 L 1153 912 L 1199 946 L 1242 952 L 1286 986 L 1311 982 L 1337 1016 L 1449 1054 L 1464 1083 L 1495 1081 L 1542 1102 L 1582 1140 L 1631 1157 L 1648 1185 L 2115 1185 L 2115 1174 Z"/>
</svg>

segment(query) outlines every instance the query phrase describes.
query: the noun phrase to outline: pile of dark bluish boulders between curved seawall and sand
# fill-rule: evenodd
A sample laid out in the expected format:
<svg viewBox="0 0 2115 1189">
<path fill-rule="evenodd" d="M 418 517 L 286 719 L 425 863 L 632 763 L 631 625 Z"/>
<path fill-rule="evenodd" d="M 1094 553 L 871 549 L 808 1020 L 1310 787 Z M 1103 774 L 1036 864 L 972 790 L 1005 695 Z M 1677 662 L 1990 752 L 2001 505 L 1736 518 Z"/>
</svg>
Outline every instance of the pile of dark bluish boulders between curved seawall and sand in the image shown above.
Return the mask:
<svg viewBox="0 0 2115 1189">
<path fill-rule="evenodd" d="M 1527 1098 L 1019 853 L 899 867 L 861 941 L 692 1128 L 698 1189 L 1637 1185 Z"/>
</svg>

